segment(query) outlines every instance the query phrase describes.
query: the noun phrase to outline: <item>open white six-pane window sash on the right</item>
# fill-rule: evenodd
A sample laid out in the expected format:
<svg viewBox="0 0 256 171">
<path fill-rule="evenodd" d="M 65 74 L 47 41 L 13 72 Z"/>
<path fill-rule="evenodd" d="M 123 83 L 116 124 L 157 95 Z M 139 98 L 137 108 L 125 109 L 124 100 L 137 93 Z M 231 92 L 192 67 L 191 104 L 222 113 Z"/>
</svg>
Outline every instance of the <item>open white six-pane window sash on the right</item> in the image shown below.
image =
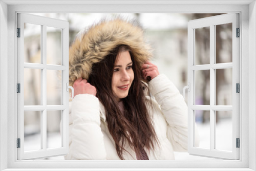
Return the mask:
<svg viewBox="0 0 256 171">
<path fill-rule="evenodd" d="M 239 159 L 239 148 L 236 148 L 236 138 L 239 138 L 239 93 L 236 93 L 236 83 L 239 83 L 239 38 L 236 28 L 239 28 L 239 14 L 223 14 L 213 17 L 191 20 L 188 23 L 188 153 L 205 157 L 221 159 Z M 215 64 L 215 26 L 232 23 L 232 62 Z M 210 63 L 195 65 L 195 29 L 210 27 Z M 216 69 L 232 68 L 232 106 L 215 105 Z M 210 105 L 195 105 L 195 71 L 210 71 Z M 194 146 L 195 141 L 195 110 L 210 111 L 210 148 L 203 149 Z M 215 149 L 215 111 L 232 111 L 232 152 Z"/>
</svg>

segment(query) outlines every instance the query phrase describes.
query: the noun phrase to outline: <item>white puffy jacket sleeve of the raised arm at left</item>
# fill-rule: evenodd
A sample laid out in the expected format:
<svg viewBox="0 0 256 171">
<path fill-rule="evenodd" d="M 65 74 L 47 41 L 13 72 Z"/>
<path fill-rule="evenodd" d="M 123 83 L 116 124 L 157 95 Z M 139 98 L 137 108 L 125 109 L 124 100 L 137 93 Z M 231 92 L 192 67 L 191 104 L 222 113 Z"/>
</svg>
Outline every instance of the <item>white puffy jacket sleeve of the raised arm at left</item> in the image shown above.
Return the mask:
<svg viewBox="0 0 256 171">
<path fill-rule="evenodd" d="M 104 160 L 106 152 L 100 128 L 99 100 L 79 94 L 72 101 L 68 160 Z"/>
</svg>

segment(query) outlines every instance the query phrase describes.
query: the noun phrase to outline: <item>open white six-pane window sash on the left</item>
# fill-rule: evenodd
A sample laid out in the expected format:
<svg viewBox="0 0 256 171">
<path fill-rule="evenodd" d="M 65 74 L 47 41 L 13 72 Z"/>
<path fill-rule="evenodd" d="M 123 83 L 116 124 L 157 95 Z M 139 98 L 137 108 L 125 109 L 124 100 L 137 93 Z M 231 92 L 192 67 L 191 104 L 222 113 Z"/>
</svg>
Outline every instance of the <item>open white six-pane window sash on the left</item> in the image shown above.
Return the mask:
<svg viewBox="0 0 256 171">
<path fill-rule="evenodd" d="M 24 24 L 30 23 L 41 26 L 41 63 L 24 62 Z M 61 60 L 62 65 L 48 65 L 46 62 L 46 28 L 61 29 Z M 20 138 L 20 148 L 17 148 L 17 159 L 38 159 L 52 156 L 66 155 L 69 151 L 69 92 L 66 83 L 69 82 L 69 23 L 59 19 L 47 18 L 31 14 L 17 14 L 17 28 L 20 28 L 20 37 L 17 38 L 17 82 L 20 83 L 20 93 L 17 94 L 17 138 Z M 24 69 L 40 69 L 40 105 L 24 105 Z M 47 70 L 62 72 L 61 105 L 47 105 Z M 62 119 L 62 146 L 47 148 L 47 111 L 60 110 Z M 24 152 L 24 112 L 40 111 L 41 149 Z"/>
</svg>

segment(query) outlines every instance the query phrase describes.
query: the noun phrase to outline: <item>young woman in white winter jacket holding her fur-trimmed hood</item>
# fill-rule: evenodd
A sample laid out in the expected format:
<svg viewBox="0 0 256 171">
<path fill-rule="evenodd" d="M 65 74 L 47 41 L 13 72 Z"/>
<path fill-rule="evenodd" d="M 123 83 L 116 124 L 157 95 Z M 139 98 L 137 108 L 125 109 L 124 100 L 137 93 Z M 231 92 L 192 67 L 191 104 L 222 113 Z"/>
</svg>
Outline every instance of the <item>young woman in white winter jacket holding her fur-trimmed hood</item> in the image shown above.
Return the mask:
<svg viewBox="0 0 256 171">
<path fill-rule="evenodd" d="M 150 58 L 135 21 L 103 20 L 74 41 L 65 159 L 172 160 L 187 150 L 186 103 Z"/>
</svg>

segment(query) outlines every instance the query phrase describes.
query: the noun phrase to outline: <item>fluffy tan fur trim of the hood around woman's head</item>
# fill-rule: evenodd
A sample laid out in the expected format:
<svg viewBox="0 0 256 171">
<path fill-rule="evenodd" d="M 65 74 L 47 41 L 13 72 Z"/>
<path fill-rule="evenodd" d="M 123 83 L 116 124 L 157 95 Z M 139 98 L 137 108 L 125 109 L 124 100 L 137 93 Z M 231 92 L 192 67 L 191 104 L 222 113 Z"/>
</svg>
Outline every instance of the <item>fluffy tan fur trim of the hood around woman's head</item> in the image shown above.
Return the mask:
<svg viewBox="0 0 256 171">
<path fill-rule="evenodd" d="M 130 46 L 134 57 L 141 64 L 152 57 L 151 48 L 144 40 L 143 29 L 136 20 L 101 20 L 77 36 L 70 48 L 70 86 L 79 77 L 88 79 L 92 65 L 101 61 L 118 45 Z"/>
</svg>

